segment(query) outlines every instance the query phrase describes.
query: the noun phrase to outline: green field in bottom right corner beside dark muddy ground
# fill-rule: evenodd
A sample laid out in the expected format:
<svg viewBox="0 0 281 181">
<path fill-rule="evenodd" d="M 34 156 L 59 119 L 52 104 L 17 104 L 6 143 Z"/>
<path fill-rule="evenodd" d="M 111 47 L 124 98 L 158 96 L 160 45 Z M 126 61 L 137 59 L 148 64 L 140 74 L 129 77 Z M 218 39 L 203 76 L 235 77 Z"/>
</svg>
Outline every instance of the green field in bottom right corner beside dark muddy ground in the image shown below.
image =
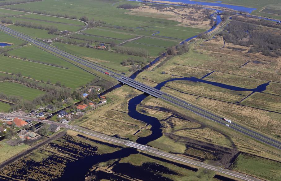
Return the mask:
<svg viewBox="0 0 281 181">
<path fill-rule="evenodd" d="M 231 168 L 268 181 L 279 181 L 281 175 L 280 162 L 243 153 L 237 157 Z"/>
</svg>

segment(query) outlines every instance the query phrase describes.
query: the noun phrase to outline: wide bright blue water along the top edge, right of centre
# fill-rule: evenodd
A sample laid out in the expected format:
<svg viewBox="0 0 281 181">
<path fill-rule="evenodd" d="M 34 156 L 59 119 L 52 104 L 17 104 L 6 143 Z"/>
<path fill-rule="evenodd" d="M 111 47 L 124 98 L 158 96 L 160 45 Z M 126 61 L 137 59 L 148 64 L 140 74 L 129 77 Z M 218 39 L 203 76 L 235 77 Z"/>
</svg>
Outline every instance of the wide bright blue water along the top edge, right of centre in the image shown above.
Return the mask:
<svg viewBox="0 0 281 181">
<path fill-rule="evenodd" d="M 134 0 L 134 1 L 144 2 L 144 1 L 141 1 L 141 0 Z M 153 1 L 153 0 L 151 0 L 151 1 Z M 200 2 L 200 1 L 191 1 L 191 0 L 167 0 L 167 1 L 169 1 L 169 2 L 183 2 L 183 3 L 186 3 L 186 4 L 199 4 L 199 5 L 205 5 L 205 6 L 226 7 L 226 8 L 236 10 L 236 11 L 241 11 L 241 12 L 246 12 L 246 13 L 251 13 L 252 11 L 256 10 L 256 8 L 222 4 L 222 3 L 219 3 L 219 1 L 218 2 Z M 157 4 L 169 4 L 169 3 L 157 3 Z"/>
</svg>

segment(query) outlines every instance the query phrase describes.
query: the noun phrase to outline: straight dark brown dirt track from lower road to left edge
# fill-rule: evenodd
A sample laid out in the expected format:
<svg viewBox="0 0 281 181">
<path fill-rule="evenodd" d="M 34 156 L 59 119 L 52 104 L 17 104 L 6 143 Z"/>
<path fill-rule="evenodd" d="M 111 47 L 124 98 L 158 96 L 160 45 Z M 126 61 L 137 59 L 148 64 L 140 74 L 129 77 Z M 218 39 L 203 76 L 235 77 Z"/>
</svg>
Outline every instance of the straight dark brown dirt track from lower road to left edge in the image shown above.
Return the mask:
<svg viewBox="0 0 281 181">
<path fill-rule="evenodd" d="M 65 134 L 66 134 L 66 131 L 59 132 L 59 133 L 56 134 L 55 136 L 52 136 L 52 137 L 50 137 L 50 138 L 47 138 L 46 140 L 44 140 L 44 141 L 42 141 L 42 142 L 40 142 L 40 143 L 38 143 L 38 144 L 32 146 L 31 148 L 29 148 L 29 149 L 27 149 L 27 150 L 24 150 L 24 151 L 21 152 L 20 154 L 17 154 L 16 156 L 11 157 L 10 159 L 8 159 L 8 160 L 6 160 L 6 161 L 4 161 L 4 162 L 2 162 L 2 163 L 0 164 L 0 169 L 2 169 L 3 167 L 9 165 L 9 164 L 12 163 L 12 162 L 15 162 L 16 160 L 20 159 L 21 157 L 23 157 L 23 156 L 25 156 L 25 155 L 27 155 L 27 154 L 33 152 L 34 150 L 36 150 L 36 149 L 38 149 L 38 148 L 44 146 L 45 144 L 48 144 L 48 143 L 50 143 L 51 141 L 53 141 L 53 140 L 55 140 L 55 139 L 58 139 L 58 138 L 64 136 Z"/>
</svg>

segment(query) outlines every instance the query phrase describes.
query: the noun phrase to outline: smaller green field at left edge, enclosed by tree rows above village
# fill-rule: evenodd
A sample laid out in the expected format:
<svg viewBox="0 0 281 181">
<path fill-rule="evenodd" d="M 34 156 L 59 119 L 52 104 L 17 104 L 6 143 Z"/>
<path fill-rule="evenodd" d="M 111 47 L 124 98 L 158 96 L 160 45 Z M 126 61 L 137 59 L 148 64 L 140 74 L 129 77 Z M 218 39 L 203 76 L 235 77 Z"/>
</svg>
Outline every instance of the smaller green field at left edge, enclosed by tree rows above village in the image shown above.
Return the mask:
<svg viewBox="0 0 281 181">
<path fill-rule="evenodd" d="M 30 88 L 26 85 L 9 81 L 0 83 L 0 92 L 6 95 L 20 96 L 28 101 L 32 101 L 35 97 L 46 93 L 45 91 L 38 90 L 36 88 Z"/>
</svg>

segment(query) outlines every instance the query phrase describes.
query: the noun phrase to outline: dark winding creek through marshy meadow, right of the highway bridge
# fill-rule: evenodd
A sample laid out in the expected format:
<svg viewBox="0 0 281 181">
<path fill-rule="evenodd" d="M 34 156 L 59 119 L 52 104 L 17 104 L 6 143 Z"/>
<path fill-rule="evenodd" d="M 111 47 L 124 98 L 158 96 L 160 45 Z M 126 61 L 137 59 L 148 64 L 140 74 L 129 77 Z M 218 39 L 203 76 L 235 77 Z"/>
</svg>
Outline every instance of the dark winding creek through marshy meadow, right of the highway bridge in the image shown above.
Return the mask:
<svg viewBox="0 0 281 181">
<path fill-rule="evenodd" d="M 261 84 L 259 86 L 257 86 L 256 88 L 242 88 L 242 87 L 236 87 L 233 85 L 227 85 L 227 84 L 222 84 L 222 83 L 218 83 L 218 82 L 212 82 L 212 81 L 208 81 L 208 80 L 203 80 L 203 79 L 199 79 L 196 77 L 181 77 L 181 78 L 174 78 L 174 79 L 169 79 L 169 80 L 165 80 L 161 83 L 159 83 L 158 85 L 155 86 L 155 88 L 157 88 L 158 90 L 161 89 L 161 87 L 163 87 L 167 82 L 171 82 L 171 81 L 175 81 L 175 80 L 188 80 L 188 81 L 192 81 L 192 82 L 202 82 L 205 84 L 211 84 L 220 88 L 226 88 L 228 90 L 233 90 L 233 91 L 252 91 L 252 92 L 262 92 L 266 90 L 266 86 L 269 85 L 270 82 Z"/>
</svg>

